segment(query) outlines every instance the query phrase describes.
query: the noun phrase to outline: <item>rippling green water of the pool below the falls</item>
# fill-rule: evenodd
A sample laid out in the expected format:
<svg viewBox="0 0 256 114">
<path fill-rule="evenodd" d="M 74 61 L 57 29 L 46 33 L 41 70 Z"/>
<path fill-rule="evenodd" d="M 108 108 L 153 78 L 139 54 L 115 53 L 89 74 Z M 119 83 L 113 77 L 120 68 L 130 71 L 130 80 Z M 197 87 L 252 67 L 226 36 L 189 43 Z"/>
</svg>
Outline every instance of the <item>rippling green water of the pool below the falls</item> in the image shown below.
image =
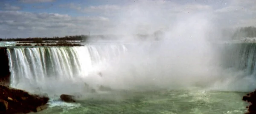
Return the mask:
<svg viewBox="0 0 256 114">
<path fill-rule="evenodd" d="M 39 114 L 243 114 L 244 94 L 198 89 L 98 92 L 77 103 L 56 97 Z"/>
</svg>

